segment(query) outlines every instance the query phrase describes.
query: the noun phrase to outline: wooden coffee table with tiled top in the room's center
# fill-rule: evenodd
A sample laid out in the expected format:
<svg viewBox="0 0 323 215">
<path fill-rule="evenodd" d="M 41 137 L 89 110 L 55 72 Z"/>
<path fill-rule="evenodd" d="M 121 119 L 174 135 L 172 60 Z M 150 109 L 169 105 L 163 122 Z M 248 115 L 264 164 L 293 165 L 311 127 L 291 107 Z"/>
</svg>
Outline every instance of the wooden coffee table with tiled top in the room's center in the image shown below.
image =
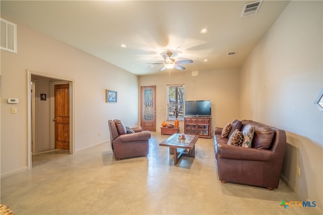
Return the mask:
<svg viewBox="0 0 323 215">
<path fill-rule="evenodd" d="M 174 165 L 182 156 L 195 158 L 195 143 L 198 139 L 198 135 L 185 134 L 185 139 L 179 139 L 178 135 L 181 134 L 175 133 L 159 144 L 159 146 L 170 148 L 170 155 L 174 155 Z M 180 151 L 178 152 L 177 149 Z"/>
</svg>

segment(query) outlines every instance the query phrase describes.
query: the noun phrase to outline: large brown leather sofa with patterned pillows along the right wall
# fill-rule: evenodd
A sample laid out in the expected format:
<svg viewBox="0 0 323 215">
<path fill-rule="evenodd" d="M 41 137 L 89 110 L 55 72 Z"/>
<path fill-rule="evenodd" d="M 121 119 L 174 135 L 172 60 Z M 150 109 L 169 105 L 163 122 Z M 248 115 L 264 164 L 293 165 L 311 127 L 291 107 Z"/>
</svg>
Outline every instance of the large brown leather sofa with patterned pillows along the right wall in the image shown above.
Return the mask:
<svg viewBox="0 0 323 215">
<path fill-rule="evenodd" d="M 241 131 L 247 124 L 254 128 L 251 148 L 228 145 L 229 137 L 222 137 L 222 128 L 215 128 L 214 153 L 220 181 L 277 188 L 286 148 L 285 131 L 251 120 L 242 120 L 241 124 Z"/>
</svg>

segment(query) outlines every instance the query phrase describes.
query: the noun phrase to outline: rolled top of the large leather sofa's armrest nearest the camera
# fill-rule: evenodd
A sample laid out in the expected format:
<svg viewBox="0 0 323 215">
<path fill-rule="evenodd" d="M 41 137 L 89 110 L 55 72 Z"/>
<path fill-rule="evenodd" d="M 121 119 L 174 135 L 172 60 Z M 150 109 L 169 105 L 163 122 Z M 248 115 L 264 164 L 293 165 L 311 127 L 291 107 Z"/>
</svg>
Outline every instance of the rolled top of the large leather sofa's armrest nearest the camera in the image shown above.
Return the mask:
<svg viewBox="0 0 323 215">
<path fill-rule="evenodd" d="M 218 157 L 236 160 L 270 161 L 273 157 L 273 152 L 270 150 L 258 150 L 254 148 L 219 144 Z"/>
</svg>

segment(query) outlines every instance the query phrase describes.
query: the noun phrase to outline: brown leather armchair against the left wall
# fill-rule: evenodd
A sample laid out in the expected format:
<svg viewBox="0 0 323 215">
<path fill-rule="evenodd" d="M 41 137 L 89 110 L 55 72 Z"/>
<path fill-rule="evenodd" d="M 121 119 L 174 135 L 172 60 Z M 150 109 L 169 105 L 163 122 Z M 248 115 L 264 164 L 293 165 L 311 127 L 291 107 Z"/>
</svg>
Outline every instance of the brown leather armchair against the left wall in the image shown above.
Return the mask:
<svg viewBox="0 0 323 215">
<path fill-rule="evenodd" d="M 134 133 L 127 133 L 126 126 L 118 119 L 109 120 L 110 142 L 117 160 L 147 156 L 149 154 L 150 132 L 141 127 L 131 128 Z"/>
</svg>

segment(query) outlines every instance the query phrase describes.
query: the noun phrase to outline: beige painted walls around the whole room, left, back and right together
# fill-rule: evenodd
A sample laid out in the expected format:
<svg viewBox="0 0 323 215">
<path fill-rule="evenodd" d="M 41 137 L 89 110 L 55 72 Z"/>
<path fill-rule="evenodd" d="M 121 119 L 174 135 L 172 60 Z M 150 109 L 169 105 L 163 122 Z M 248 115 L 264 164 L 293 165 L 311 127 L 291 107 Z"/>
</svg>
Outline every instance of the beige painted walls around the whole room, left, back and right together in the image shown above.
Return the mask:
<svg viewBox="0 0 323 215">
<path fill-rule="evenodd" d="M 109 139 L 107 119 L 138 125 L 138 89 L 147 85 L 157 86 L 157 128 L 166 119 L 167 85 L 185 84 L 186 100 L 211 100 L 213 128 L 240 118 L 285 129 L 283 176 L 299 196 L 290 200 L 316 201 L 322 211 L 323 122 L 313 105 L 322 88 L 320 1 L 292 1 L 248 57 L 241 74 L 238 68 L 199 71 L 197 77 L 178 71 L 169 78 L 164 71 L 138 81 L 121 68 L 18 24 L 18 54 L 1 51 L 2 175 L 27 165 L 26 69 L 74 80 L 76 149 Z M 118 103 L 105 103 L 104 89 L 118 91 Z M 17 114 L 10 114 L 8 98 L 19 98 Z"/>
</svg>

